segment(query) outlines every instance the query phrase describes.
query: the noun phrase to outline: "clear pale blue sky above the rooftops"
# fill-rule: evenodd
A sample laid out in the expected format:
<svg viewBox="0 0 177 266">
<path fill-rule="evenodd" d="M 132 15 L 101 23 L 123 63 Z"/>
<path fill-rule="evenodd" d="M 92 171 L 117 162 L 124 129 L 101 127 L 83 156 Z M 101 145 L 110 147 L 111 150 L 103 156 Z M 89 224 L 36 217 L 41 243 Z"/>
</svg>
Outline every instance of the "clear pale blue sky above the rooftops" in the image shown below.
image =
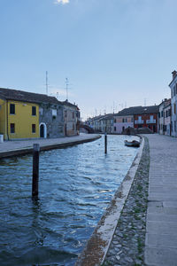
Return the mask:
<svg viewBox="0 0 177 266">
<path fill-rule="evenodd" d="M 0 87 L 58 95 L 83 120 L 170 98 L 176 0 L 0 0 Z"/>
</svg>

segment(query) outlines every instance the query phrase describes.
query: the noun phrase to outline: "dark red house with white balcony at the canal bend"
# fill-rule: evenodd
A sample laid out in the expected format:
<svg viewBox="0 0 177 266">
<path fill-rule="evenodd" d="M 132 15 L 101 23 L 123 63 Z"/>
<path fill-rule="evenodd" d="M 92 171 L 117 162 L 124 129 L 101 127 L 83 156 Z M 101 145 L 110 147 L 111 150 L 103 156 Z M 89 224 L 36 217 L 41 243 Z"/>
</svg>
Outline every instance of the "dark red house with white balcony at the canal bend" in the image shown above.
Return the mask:
<svg viewBox="0 0 177 266">
<path fill-rule="evenodd" d="M 149 128 L 158 133 L 158 106 L 137 106 L 134 112 L 134 127 Z"/>
</svg>

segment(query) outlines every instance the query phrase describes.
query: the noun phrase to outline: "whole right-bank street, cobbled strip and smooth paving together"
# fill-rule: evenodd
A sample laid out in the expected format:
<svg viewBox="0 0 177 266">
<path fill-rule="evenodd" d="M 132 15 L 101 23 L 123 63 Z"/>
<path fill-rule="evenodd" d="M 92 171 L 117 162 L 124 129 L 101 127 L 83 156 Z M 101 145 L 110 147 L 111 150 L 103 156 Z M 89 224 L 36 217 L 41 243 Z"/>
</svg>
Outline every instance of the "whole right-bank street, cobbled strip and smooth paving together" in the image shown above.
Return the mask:
<svg viewBox="0 0 177 266">
<path fill-rule="evenodd" d="M 105 265 L 177 265 L 177 139 L 144 137 L 150 151 L 146 141 Z"/>
</svg>

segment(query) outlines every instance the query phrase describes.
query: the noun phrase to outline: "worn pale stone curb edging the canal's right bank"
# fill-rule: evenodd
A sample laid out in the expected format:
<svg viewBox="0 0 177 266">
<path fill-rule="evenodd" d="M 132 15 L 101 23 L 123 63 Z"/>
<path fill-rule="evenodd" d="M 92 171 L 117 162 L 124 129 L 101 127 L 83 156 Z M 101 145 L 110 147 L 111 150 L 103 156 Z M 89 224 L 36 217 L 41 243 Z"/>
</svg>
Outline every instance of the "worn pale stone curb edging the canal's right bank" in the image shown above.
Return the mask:
<svg viewBox="0 0 177 266">
<path fill-rule="evenodd" d="M 127 176 L 124 177 L 118 191 L 115 192 L 110 205 L 106 208 L 104 215 L 97 224 L 91 238 L 88 240 L 85 249 L 79 255 L 75 266 L 99 266 L 104 262 L 104 258 L 111 245 L 112 237 L 119 221 L 119 216 L 124 207 L 125 201 L 127 200 L 127 195 L 142 158 L 144 138 L 141 138 L 142 144 L 135 156 L 135 160 L 127 172 Z"/>
</svg>

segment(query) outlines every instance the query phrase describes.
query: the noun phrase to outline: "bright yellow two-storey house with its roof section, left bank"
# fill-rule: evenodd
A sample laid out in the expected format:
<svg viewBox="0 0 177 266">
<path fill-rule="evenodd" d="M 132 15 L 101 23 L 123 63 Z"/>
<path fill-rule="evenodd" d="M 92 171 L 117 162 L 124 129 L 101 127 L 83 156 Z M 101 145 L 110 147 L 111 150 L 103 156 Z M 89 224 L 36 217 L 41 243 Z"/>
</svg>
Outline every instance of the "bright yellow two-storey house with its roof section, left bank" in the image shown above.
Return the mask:
<svg viewBox="0 0 177 266">
<path fill-rule="evenodd" d="M 39 137 L 35 93 L 0 88 L 0 134 L 5 140 Z"/>
</svg>

